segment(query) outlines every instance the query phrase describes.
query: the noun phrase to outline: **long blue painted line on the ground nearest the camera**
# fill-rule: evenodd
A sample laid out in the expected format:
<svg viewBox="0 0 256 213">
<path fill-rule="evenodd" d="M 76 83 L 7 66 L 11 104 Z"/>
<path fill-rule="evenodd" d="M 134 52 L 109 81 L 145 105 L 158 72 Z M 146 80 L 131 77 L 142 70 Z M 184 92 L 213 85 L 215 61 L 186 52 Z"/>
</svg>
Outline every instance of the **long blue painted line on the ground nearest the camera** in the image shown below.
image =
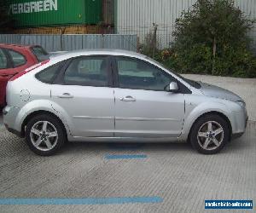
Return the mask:
<svg viewBox="0 0 256 213">
<path fill-rule="evenodd" d="M 137 204 L 161 203 L 160 197 L 96 198 L 96 199 L 0 199 L 0 205 L 36 204 Z"/>
</svg>

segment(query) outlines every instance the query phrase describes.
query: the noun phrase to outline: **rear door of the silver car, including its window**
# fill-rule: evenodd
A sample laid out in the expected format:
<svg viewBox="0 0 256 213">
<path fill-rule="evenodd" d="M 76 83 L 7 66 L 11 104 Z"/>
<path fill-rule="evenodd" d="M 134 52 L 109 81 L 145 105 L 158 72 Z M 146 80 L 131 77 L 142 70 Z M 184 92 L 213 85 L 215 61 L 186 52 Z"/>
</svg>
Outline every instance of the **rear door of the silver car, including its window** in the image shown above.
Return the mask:
<svg viewBox="0 0 256 213">
<path fill-rule="evenodd" d="M 113 137 L 114 96 L 108 56 L 71 60 L 52 85 L 51 96 L 67 114 L 74 137 Z"/>
</svg>

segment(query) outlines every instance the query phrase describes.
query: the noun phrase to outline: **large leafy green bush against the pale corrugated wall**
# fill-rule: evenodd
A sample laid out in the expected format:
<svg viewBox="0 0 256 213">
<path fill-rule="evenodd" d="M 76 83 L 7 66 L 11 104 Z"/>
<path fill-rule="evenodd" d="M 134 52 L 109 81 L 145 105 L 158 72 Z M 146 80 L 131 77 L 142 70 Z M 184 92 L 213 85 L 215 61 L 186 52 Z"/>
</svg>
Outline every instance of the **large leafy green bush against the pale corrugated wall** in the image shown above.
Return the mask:
<svg viewBox="0 0 256 213">
<path fill-rule="evenodd" d="M 183 72 L 256 77 L 248 50 L 252 26 L 233 0 L 198 0 L 176 20 L 177 66 Z"/>
</svg>

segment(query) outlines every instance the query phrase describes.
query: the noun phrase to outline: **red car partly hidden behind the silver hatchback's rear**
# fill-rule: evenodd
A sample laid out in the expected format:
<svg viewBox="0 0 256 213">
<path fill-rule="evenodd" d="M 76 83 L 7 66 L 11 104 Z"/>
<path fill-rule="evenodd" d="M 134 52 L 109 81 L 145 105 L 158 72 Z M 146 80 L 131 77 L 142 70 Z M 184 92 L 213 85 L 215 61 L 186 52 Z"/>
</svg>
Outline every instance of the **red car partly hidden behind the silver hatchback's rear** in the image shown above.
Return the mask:
<svg viewBox="0 0 256 213">
<path fill-rule="evenodd" d="M 5 105 L 6 85 L 9 79 L 26 68 L 48 59 L 49 54 L 40 46 L 0 43 L 0 107 Z"/>
</svg>

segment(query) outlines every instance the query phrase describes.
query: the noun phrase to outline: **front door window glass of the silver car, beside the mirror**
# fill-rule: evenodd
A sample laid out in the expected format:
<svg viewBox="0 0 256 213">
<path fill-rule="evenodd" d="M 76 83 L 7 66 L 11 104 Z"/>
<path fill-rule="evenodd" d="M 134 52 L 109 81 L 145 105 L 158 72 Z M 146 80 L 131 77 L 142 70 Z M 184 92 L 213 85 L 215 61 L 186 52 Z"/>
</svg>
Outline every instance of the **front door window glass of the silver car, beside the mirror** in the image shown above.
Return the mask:
<svg viewBox="0 0 256 213">
<path fill-rule="evenodd" d="M 143 60 L 117 57 L 119 87 L 165 91 L 174 78 Z"/>
</svg>

